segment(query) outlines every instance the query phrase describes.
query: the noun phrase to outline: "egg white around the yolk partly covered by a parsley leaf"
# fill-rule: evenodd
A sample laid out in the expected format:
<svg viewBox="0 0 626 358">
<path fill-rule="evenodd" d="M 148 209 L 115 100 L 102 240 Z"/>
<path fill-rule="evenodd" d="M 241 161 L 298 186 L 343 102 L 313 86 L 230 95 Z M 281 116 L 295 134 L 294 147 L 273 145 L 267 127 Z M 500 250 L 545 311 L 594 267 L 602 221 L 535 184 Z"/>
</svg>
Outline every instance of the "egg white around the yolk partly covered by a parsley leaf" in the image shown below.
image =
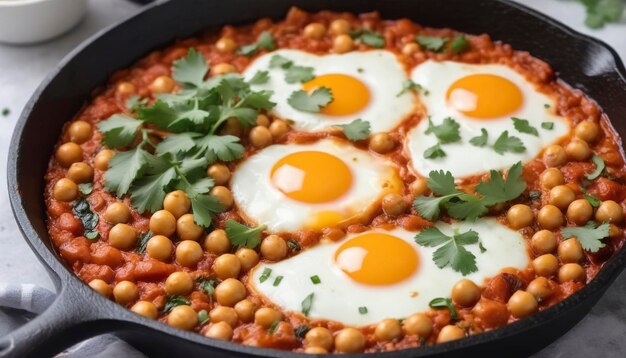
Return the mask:
<svg viewBox="0 0 626 358">
<path fill-rule="evenodd" d="M 294 91 L 302 89 L 302 84 L 287 83 L 283 69 L 270 68 L 270 60 L 274 55 L 283 56 L 298 66 L 313 67 L 316 76 L 337 73 L 355 77 L 369 88 L 370 103 L 361 111 L 346 116 L 328 116 L 297 110 L 287 103 L 287 99 Z M 292 120 L 293 127 L 298 130 L 321 131 L 361 118 L 370 123 L 372 132 L 389 131 L 410 115 L 415 106 L 415 96 L 410 91 L 398 96 L 408 79 L 407 74 L 396 56 L 386 50 L 323 56 L 300 50 L 279 50 L 255 59 L 244 71 L 244 77 L 249 80 L 257 71 L 269 71 L 270 79 L 267 83 L 253 85 L 252 88 L 273 91 L 271 99 L 276 102 L 273 113 Z"/>
</svg>

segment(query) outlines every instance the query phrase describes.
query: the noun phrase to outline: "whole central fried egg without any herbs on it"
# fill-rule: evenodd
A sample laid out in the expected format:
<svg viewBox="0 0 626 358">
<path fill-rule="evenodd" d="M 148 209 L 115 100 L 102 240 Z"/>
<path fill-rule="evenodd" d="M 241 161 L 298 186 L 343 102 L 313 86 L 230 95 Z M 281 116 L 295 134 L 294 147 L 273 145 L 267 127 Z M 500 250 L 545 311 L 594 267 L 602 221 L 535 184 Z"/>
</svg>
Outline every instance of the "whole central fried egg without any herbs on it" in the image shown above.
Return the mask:
<svg viewBox="0 0 626 358">
<path fill-rule="evenodd" d="M 266 147 L 240 164 L 231 181 L 239 212 L 272 232 L 367 218 L 385 194 L 402 188 L 390 162 L 339 139 Z"/>
</svg>

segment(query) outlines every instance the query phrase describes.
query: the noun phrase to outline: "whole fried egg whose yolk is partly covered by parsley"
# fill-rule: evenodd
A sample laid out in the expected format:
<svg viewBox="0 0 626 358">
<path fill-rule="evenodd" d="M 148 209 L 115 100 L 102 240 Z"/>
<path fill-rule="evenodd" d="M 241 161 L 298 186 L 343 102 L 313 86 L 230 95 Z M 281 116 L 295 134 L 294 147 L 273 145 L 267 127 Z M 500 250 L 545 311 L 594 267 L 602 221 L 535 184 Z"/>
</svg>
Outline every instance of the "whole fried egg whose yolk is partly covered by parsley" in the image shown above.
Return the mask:
<svg viewBox="0 0 626 358">
<path fill-rule="evenodd" d="M 270 68 L 271 59 L 282 56 L 294 65 L 311 67 L 315 77 L 305 83 L 287 83 L 285 70 Z M 372 132 L 396 127 L 414 108 L 415 96 L 398 96 L 408 79 L 396 56 L 385 50 L 354 51 L 346 54 L 314 55 L 300 50 L 279 50 L 257 58 L 244 72 L 251 79 L 258 71 L 269 71 L 268 82 L 253 85 L 254 90 L 270 90 L 276 102 L 273 113 L 294 121 L 303 131 L 320 131 L 360 118 L 370 123 Z M 293 108 L 287 100 L 298 90 L 311 92 L 327 87 L 333 101 L 319 113 Z"/>
</svg>

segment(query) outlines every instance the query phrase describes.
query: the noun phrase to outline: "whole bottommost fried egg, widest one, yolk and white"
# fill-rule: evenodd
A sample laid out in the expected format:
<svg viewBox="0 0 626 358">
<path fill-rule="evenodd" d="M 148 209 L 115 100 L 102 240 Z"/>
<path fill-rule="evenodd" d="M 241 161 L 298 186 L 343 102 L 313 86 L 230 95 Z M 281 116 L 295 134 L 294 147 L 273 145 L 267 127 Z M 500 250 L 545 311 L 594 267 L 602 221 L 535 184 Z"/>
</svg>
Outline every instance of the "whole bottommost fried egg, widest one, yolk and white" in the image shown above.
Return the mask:
<svg viewBox="0 0 626 358">
<path fill-rule="evenodd" d="M 446 235 L 470 229 L 478 233 L 486 251 L 481 252 L 478 244 L 464 246 L 476 256 L 478 271 L 463 276 L 450 267 L 438 268 L 432 259 L 436 248 L 416 244 L 415 232 L 372 229 L 340 242 L 321 242 L 277 263 L 261 263 L 249 275 L 248 287 L 295 312 L 301 312 L 302 301 L 312 293 L 310 318 L 363 326 L 426 311 L 430 300 L 449 297 L 464 277 L 481 285 L 505 267 L 528 265 L 522 235 L 495 219 L 436 226 Z M 261 280 L 264 273 L 267 278 Z M 279 276 L 282 279 L 275 284 Z"/>
</svg>

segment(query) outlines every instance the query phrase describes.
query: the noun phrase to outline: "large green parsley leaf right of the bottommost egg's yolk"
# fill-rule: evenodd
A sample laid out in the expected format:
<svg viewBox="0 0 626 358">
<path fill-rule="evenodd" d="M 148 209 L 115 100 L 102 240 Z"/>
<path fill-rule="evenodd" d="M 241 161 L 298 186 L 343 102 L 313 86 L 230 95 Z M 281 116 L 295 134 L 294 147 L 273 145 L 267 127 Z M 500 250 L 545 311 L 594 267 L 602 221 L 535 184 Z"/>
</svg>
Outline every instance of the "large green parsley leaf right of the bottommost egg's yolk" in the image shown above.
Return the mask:
<svg viewBox="0 0 626 358">
<path fill-rule="evenodd" d="M 463 276 L 478 271 L 476 256 L 464 247 L 478 243 L 478 233 L 473 230 L 447 236 L 431 227 L 415 235 L 415 242 L 425 247 L 439 246 L 433 253 L 433 261 L 439 268 L 450 267 Z"/>
</svg>

